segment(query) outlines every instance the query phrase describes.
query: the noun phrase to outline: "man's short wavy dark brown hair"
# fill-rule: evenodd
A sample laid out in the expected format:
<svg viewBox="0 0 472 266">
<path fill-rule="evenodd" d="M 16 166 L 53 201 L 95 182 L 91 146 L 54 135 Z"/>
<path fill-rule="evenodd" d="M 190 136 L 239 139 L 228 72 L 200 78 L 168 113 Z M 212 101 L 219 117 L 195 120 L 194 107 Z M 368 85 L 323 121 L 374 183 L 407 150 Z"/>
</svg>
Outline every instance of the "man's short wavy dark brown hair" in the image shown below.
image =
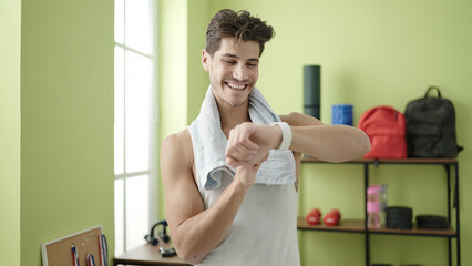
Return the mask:
<svg viewBox="0 0 472 266">
<path fill-rule="evenodd" d="M 250 16 L 246 10 L 238 12 L 230 9 L 218 11 L 209 21 L 206 30 L 205 50 L 213 57 L 219 49 L 223 38 L 234 37 L 236 41 L 257 41 L 259 57 L 263 54 L 264 44 L 275 35 L 274 28 L 266 21 Z"/>
</svg>

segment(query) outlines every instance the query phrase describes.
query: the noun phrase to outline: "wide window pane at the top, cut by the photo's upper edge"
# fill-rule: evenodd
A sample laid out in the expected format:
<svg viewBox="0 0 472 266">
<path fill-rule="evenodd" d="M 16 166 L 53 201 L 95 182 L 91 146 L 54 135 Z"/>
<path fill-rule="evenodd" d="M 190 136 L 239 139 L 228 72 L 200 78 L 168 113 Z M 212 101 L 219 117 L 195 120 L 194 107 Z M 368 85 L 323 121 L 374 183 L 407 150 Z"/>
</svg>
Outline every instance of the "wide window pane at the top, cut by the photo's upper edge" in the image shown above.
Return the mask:
<svg viewBox="0 0 472 266">
<path fill-rule="evenodd" d="M 151 53 L 150 0 L 126 0 L 125 45 Z"/>
</svg>

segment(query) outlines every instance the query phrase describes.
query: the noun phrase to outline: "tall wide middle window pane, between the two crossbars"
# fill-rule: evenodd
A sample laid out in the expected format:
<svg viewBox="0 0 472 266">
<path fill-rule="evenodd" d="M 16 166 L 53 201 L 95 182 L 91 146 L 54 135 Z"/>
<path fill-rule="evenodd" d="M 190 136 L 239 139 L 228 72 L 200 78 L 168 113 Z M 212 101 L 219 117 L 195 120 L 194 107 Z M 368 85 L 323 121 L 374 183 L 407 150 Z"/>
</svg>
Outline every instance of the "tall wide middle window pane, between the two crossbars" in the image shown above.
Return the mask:
<svg viewBox="0 0 472 266">
<path fill-rule="evenodd" d="M 150 102 L 152 61 L 125 52 L 125 171 L 146 171 L 150 167 Z"/>
</svg>

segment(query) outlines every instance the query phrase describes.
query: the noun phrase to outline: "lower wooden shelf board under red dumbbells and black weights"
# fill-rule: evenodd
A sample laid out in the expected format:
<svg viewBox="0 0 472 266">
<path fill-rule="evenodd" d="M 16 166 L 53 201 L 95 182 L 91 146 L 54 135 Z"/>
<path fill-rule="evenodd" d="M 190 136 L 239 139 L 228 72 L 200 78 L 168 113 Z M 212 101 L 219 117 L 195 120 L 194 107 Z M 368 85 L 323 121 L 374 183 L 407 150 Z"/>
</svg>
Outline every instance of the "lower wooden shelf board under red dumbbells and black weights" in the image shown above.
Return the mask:
<svg viewBox="0 0 472 266">
<path fill-rule="evenodd" d="M 448 229 L 390 229 L 390 228 L 369 228 L 365 231 L 363 221 L 361 219 L 341 219 L 339 225 L 327 226 L 310 225 L 304 217 L 298 217 L 297 228 L 301 231 L 330 231 L 330 232 L 349 232 L 349 233 L 369 233 L 369 234 L 390 234 L 390 235 L 412 235 L 412 236 L 441 236 L 456 237 L 456 233 L 452 228 Z"/>
</svg>

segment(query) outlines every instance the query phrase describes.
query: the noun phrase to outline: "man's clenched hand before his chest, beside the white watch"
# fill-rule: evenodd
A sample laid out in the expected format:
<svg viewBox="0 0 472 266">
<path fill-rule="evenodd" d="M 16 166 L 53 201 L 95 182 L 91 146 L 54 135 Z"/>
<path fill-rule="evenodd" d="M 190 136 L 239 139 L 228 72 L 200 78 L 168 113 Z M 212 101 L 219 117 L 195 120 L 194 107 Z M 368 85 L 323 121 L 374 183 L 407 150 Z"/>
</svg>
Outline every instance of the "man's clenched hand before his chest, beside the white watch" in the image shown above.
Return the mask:
<svg viewBox="0 0 472 266">
<path fill-rule="evenodd" d="M 245 172 L 255 173 L 267 160 L 269 151 L 276 149 L 281 140 L 278 125 L 243 123 L 229 132 L 226 145 L 226 163 L 233 167 L 244 167 Z M 247 173 L 248 174 L 248 173 Z M 254 181 L 247 180 L 249 185 Z M 246 183 L 246 182 L 244 182 Z"/>
</svg>

